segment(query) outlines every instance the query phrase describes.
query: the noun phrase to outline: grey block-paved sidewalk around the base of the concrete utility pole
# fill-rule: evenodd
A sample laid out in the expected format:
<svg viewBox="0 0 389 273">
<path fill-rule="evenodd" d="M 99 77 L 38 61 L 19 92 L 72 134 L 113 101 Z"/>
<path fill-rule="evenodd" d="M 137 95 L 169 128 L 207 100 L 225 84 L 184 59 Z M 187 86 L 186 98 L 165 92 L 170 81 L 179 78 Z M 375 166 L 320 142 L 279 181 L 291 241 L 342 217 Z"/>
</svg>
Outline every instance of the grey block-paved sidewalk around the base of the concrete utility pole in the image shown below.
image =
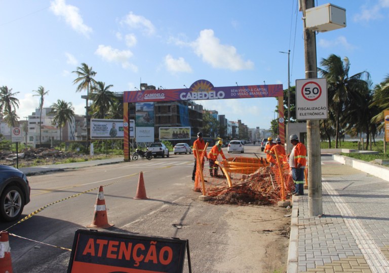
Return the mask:
<svg viewBox="0 0 389 273">
<path fill-rule="evenodd" d="M 389 182 L 322 156 L 322 217 L 304 193 L 293 196 L 288 273 L 389 272 Z"/>
</svg>

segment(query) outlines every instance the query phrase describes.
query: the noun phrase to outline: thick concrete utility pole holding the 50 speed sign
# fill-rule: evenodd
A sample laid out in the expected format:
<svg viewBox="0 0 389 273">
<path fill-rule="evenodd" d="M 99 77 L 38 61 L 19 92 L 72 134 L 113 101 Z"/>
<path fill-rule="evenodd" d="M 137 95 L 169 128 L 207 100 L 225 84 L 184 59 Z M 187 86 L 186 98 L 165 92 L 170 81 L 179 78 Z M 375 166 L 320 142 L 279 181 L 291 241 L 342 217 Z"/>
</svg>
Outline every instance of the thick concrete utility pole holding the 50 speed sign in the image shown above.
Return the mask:
<svg viewBox="0 0 389 273">
<path fill-rule="evenodd" d="M 305 10 L 315 7 L 315 0 L 302 1 L 302 14 Z M 304 23 L 304 53 L 305 79 L 317 78 L 316 33 L 305 28 Z M 320 158 L 320 120 L 307 120 L 307 156 L 308 156 L 308 213 L 309 216 L 323 214 L 322 200 L 322 168 Z"/>
</svg>

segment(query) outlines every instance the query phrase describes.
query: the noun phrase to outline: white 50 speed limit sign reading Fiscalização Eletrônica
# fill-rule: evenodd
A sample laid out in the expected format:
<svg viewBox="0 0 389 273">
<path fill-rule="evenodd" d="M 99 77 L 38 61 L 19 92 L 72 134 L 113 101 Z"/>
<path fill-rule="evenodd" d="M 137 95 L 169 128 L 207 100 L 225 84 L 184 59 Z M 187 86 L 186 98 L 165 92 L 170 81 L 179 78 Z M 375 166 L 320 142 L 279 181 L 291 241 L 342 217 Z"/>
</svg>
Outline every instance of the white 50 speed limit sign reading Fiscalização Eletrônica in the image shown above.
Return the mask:
<svg viewBox="0 0 389 273">
<path fill-rule="evenodd" d="M 327 79 L 296 80 L 296 119 L 327 119 Z"/>
</svg>

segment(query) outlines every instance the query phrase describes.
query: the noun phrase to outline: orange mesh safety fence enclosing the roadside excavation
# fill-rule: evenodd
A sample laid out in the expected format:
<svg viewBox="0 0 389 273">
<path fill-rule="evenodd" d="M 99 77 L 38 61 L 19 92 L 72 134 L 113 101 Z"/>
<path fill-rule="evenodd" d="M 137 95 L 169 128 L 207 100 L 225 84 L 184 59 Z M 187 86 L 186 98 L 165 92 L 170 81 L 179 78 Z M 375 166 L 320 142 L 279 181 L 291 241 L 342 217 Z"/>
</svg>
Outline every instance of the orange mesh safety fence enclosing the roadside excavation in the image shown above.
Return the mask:
<svg viewBox="0 0 389 273">
<path fill-rule="evenodd" d="M 200 155 L 201 162 L 198 161 L 203 167 L 197 167 L 194 190 L 216 198 L 221 198 L 225 194 L 250 196 L 263 204 L 285 200 L 294 191 L 294 183 L 286 158 L 280 158 L 278 159 L 280 167 L 279 164 L 270 167 L 262 157 L 236 156 L 223 160 L 219 155 L 215 161 L 219 173 L 217 176 L 211 176 L 209 171 L 211 168 L 207 166 L 208 162 L 205 162 L 203 152 Z M 204 190 L 200 169 L 203 170 Z"/>
</svg>

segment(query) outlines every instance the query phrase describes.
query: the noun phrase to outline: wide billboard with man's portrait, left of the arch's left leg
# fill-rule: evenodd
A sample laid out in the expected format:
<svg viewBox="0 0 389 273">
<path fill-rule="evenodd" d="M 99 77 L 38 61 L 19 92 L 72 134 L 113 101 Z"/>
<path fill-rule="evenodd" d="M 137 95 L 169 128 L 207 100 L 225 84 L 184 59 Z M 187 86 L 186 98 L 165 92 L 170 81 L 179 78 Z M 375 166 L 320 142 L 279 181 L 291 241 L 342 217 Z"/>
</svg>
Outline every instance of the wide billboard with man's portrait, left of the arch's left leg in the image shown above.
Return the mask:
<svg viewBox="0 0 389 273">
<path fill-rule="evenodd" d="M 91 119 L 91 139 L 124 139 L 123 119 Z"/>
</svg>

